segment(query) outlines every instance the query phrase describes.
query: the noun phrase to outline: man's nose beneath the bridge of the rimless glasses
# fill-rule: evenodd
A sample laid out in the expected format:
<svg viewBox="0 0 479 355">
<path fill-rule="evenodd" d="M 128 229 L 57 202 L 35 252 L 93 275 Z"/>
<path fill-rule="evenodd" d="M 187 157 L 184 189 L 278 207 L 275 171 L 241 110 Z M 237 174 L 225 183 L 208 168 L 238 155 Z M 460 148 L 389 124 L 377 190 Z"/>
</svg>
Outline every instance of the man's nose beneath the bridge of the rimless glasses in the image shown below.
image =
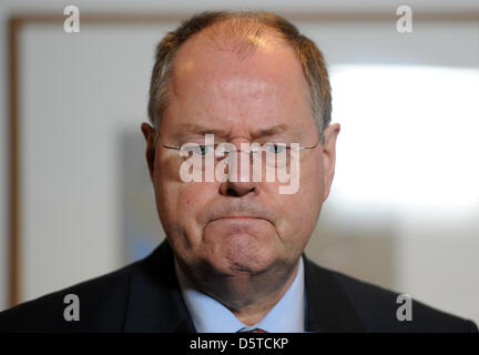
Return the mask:
<svg viewBox="0 0 479 355">
<path fill-rule="evenodd" d="M 237 159 L 240 156 L 240 159 Z M 230 156 L 227 180 L 220 185 L 220 193 L 224 196 L 245 196 L 249 193 L 258 194 L 259 183 L 253 181 L 253 164 L 251 153 L 237 152 Z"/>
</svg>

